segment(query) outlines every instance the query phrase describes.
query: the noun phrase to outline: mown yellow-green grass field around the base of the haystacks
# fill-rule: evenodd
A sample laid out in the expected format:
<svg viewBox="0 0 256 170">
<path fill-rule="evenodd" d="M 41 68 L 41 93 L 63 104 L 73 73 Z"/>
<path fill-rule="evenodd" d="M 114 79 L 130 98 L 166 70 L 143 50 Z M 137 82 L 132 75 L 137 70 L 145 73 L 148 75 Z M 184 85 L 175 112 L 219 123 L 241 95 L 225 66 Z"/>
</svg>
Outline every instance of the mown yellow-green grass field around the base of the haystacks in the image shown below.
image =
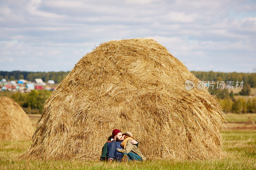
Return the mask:
<svg viewBox="0 0 256 170">
<path fill-rule="evenodd" d="M 256 117 L 256 114 L 250 114 Z M 108 163 L 85 160 L 24 160 L 17 157 L 30 141 L 1 141 L 0 169 L 256 169 L 256 129 L 243 128 L 248 115 L 232 114 L 230 122 L 240 122 L 241 128 L 222 131 L 225 157 L 211 160 L 152 160 L 145 162 Z M 31 122 L 38 117 L 29 115 Z"/>
</svg>

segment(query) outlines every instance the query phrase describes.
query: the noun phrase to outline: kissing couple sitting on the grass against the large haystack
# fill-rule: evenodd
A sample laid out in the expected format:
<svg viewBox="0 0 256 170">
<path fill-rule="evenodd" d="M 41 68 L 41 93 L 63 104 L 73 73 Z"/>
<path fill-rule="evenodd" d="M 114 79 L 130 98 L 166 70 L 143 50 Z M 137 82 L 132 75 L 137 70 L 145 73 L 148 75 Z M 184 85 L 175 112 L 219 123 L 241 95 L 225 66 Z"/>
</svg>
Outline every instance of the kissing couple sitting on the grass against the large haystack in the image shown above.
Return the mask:
<svg viewBox="0 0 256 170">
<path fill-rule="evenodd" d="M 104 144 L 100 160 L 108 160 L 109 162 L 146 160 L 138 149 L 138 141 L 134 140 L 131 132 L 121 133 L 120 130 L 112 131 L 112 138 Z"/>
</svg>

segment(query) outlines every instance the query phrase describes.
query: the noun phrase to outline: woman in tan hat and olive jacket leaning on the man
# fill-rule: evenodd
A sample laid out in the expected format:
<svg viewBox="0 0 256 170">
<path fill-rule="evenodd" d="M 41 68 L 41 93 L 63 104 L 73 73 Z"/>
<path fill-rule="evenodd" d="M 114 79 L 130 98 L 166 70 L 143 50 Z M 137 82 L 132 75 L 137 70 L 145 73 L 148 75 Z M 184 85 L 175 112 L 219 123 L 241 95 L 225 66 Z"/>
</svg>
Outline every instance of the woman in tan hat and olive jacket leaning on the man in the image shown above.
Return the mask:
<svg viewBox="0 0 256 170">
<path fill-rule="evenodd" d="M 131 140 L 133 139 L 132 133 L 131 132 L 126 132 L 123 134 L 123 137 L 121 141 L 121 146 L 124 149 L 117 149 L 118 152 L 122 153 L 127 153 L 129 158 L 132 160 L 138 160 L 138 161 L 143 161 L 146 160 L 147 158 L 142 155 L 142 153 L 139 151 L 138 147 L 134 144 L 131 144 Z M 126 154 L 124 154 L 126 155 Z M 128 158 L 128 160 L 129 160 Z"/>
</svg>

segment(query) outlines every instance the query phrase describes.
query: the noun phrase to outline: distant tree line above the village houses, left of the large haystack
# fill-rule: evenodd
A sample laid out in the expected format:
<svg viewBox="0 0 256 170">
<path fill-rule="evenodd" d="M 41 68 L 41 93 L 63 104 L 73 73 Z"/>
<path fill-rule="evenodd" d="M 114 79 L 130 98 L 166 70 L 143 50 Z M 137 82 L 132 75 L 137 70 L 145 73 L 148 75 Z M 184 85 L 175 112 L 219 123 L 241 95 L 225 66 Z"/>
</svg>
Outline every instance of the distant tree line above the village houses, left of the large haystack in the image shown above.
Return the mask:
<svg viewBox="0 0 256 170">
<path fill-rule="evenodd" d="M 33 81 L 35 78 L 42 78 L 44 82 L 48 80 L 54 80 L 55 83 L 60 83 L 68 75 L 69 71 L 59 72 L 30 72 L 30 71 L 0 71 L 0 80 L 5 78 L 6 80 L 19 80 L 27 79 Z"/>
</svg>

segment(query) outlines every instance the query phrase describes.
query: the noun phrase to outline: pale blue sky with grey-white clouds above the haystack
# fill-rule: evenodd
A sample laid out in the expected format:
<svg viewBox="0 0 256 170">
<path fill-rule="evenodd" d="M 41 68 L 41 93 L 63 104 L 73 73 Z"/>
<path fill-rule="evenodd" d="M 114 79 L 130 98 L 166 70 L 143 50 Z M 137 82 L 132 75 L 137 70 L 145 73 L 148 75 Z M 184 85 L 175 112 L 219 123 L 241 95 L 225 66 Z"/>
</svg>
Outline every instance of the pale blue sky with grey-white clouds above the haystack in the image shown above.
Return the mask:
<svg viewBox="0 0 256 170">
<path fill-rule="evenodd" d="M 252 72 L 256 1 L 0 1 L 0 70 L 68 71 L 101 42 L 138 37 L 189 70 Z"/>
</svg>

